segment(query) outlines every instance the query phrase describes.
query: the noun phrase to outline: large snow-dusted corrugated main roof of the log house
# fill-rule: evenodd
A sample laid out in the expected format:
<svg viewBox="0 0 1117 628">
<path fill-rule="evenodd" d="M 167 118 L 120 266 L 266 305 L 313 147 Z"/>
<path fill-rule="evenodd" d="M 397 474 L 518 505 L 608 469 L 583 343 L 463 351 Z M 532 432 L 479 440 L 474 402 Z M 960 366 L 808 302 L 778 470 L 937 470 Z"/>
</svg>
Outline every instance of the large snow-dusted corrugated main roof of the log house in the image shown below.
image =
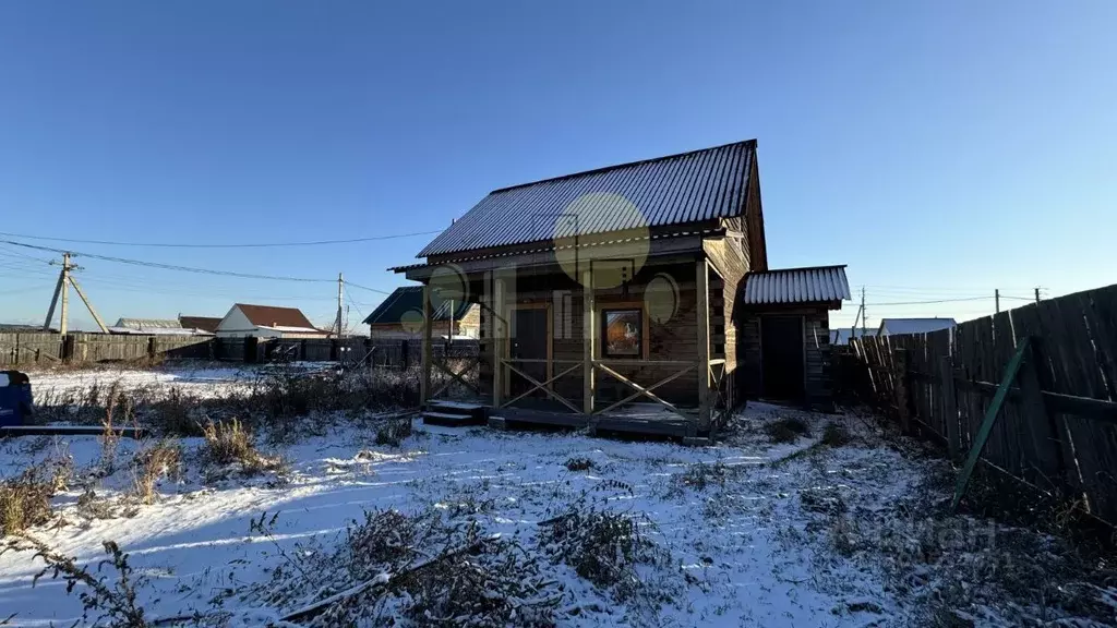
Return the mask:
<svg viewBox="0 0 1117 628">
<path fill-rule="evenodd" d="M 417 257 L 738 216 L 755 154 L 748 140 L 495 190 Z"/>
</svg>

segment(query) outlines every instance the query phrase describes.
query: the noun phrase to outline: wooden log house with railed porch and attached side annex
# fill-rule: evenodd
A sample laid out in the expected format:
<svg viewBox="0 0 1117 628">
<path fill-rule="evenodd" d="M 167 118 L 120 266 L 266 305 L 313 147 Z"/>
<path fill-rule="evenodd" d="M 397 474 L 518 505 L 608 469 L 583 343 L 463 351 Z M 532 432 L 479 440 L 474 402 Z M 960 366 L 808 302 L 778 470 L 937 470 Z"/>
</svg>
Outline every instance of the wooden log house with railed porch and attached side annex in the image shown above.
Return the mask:
<svg viewBox="0 0 1117 628">
<path fill-rule="evenodd" d="M 418 257 L 393 270 L 423 284 L 423 399 L 447 422 L 707 435 L 746 396 L 823 394 L 849 298 L 843 267 L 768 269 L 755 141 L 495 190 Z M 455 368 L 430 351 L 448 301 L 480 308 Z"/>
</svg>

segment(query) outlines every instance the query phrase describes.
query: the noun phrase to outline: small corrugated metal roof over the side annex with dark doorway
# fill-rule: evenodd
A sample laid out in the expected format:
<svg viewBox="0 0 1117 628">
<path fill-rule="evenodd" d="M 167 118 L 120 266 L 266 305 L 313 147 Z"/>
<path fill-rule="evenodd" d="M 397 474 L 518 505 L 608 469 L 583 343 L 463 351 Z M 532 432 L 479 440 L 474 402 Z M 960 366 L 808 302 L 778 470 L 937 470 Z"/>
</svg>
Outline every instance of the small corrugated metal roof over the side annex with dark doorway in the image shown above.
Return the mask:
<svg viewBox="0 0 1117 628">
<path fill-rule="evenodd" d="M 745 305 L 822 303 L 851 298 L 846 266 L 784 268 L 745 276 Z"/>
</svg>

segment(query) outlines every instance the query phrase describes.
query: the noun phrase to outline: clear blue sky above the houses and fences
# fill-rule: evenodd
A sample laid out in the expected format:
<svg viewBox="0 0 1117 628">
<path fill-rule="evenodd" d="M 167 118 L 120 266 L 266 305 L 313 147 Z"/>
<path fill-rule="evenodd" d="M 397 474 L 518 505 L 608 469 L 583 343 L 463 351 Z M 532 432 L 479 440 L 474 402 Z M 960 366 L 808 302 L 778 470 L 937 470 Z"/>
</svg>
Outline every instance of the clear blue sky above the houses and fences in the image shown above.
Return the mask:
<svg viewBox="0 0 1117 628">
<path fill-rule="evenodd" d="M 756 137 L 773 266 L 848 264 L 870 303 L 1062 294 L 1117 282 L 1115 25 L 1108 0 L 3 2 L 0 231 L 422 231 L 494 188 Z M 390 289 L 427 239 L 69 246 Z M 0 321 L 40 320 L 52 288 L 20 255 L 50 257 L 0 248 Z M 78 261 L 106 318 L 233 301 L 332 318 L 330 284 Z"/>
</svg>

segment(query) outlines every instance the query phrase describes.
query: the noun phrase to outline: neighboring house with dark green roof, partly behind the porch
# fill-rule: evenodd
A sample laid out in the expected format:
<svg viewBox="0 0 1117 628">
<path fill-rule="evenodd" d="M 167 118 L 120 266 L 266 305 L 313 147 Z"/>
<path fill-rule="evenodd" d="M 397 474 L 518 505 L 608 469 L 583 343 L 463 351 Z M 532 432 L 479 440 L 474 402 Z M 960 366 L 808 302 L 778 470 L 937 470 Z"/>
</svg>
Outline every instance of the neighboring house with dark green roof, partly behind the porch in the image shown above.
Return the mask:
<svg viewBox="0 0 1117 628">
<path fill-rule="evenodd" d="M 452 307 L 452 311 L 451 311 Z M 431 308 L 432 334 L 447 337 L 450 314 L 454 314 L 454 337 L 476 339 L 480 327 L 480 306 L 468 301 L 441 301 Z M 422 286 L 395 288 L 364 320 L 369 335 L 380 339 L 418 339 L 422 336 Z"/>
</svg>

